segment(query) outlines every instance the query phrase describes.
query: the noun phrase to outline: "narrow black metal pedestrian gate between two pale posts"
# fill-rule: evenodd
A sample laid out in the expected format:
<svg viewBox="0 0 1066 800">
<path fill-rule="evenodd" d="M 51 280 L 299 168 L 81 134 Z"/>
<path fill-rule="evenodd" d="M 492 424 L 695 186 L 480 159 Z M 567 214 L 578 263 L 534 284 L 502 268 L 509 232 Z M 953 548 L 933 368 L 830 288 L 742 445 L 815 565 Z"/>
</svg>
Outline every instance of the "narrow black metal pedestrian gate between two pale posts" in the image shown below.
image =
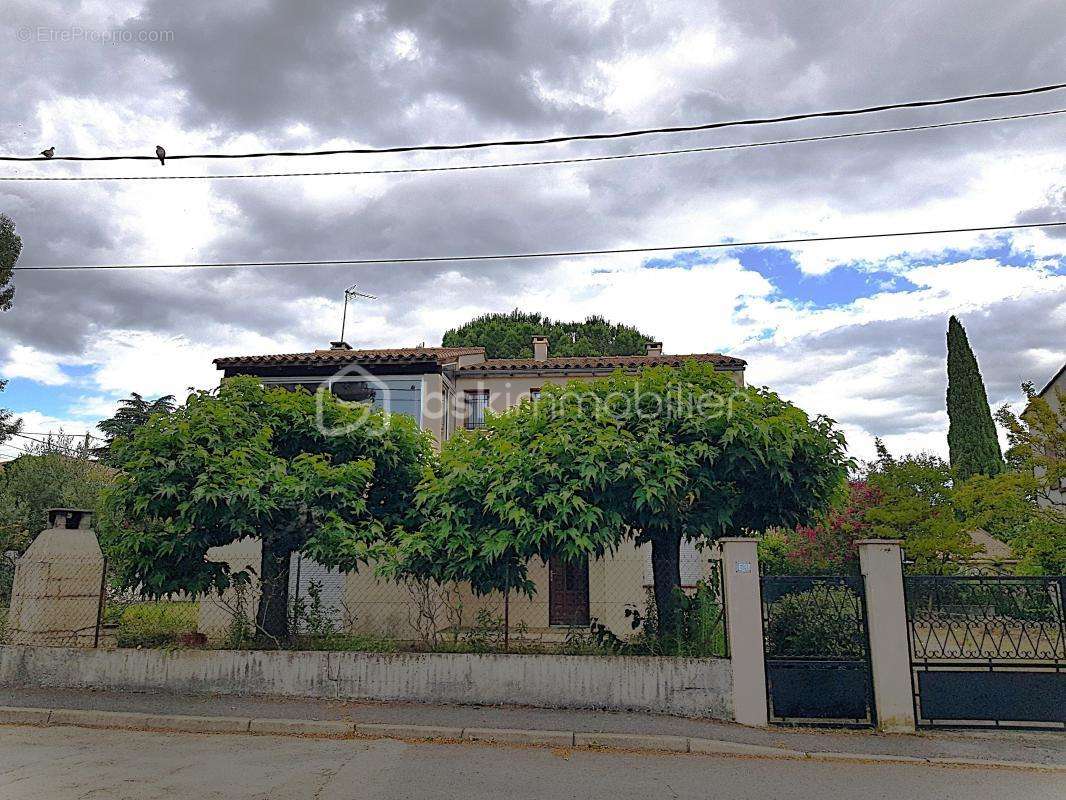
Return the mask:
<svg viewBox="0 0 1066 800">
<path fill-rule="evenodd" d="M 875 724 L 862 577 L 765 575 L 761 588 L 771 721 Z"/>
</svg>

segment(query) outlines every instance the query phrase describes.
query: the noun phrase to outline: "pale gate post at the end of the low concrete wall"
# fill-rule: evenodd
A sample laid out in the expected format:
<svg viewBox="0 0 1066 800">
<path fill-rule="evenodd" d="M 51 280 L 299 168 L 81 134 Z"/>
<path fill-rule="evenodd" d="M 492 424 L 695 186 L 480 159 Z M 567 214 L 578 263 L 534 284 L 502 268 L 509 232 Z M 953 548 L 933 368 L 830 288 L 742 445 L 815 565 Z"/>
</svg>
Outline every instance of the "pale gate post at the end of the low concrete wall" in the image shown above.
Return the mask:
<svg viewBox="0 0 1066 800">
<path fill-rule="evenodd" d="M 733 719 L 765 727 L 766 669 L 762 643 L 762 596 L 755 539 L 720 539 L 722 592 L 733 673 Z"/>
</svg>

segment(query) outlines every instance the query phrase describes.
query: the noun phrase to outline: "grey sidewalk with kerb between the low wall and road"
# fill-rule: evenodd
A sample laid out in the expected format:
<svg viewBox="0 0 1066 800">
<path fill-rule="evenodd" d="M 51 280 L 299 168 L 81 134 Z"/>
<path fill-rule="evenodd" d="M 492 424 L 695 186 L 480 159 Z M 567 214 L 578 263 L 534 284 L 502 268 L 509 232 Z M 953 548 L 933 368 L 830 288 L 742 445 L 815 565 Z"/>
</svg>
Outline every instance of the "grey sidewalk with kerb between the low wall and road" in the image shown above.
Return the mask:
<svg viewBox="0 0 1066 800">
<path fill-rule="evenodd" d="M 1013 731 L 937 731 L 918 735 L 877 734 L 869 731 L 820 731 L 811 729 L 769 730 L 744 727 L 731 722 L 683 719 L 640 713 L 553 710 L 527 707 L 422 705 L 311 700 L 304 698 L 241 698 L 231 695 L 135 694 L 67 689 L 2 688 L 0 706 L 49 709 L 86 709 L 152 715 L 229 717 L 256 720 L 334 720 L 352 724 L 423 725 L 453 731 L 484 733 L 486 729 L 508 732 L 575 732 L 582 734 L 629 734 L 634 749 L 657 749 L 637 743 L 648 736 L 664 737 L 662 749 L 681 739 L 778 748 L 781 757 L 847 757 L 883 755 L 902 758 L 937 758 L 956 762 L 1014 762 L 1066 767 L 1066 733 Z M 219 720 L 221 722 L 221 720 Z M 247 730 L 246 727 L 244 730 Z M 253 730 L 255 727 L 253 726 Z M 383 729 L 384 730 L 384 729 Z M 395 734 L 402 737 L 402 733 Z M 672 737 L 672 738 L 666 738 Z M 453 738 L 461 738 L 454 736 Z M 487 738 L 467 735 L 466 738 Z M 512 737 L 512 740 L 521 740 Z M 625 747 L 625 739 L 617 739 Z M 650 740 L 648 740 L 650 741 Z M 691 748 L 695 751 L 695 745 Z M 773 752 L 738 754 L 764 755 Z"/>
</svg>

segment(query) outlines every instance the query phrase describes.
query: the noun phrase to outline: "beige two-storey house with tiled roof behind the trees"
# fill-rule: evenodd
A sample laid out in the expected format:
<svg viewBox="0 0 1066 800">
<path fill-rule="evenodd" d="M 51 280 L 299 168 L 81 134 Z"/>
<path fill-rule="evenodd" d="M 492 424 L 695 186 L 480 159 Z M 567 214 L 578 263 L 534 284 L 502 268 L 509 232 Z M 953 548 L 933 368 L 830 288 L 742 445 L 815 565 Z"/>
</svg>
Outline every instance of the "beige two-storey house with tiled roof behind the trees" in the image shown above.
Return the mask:
<svg viewBox="0 0 1066 800">
<path fill-rule="evenodd" d="M 648 366 L 681 366 L 696 361 L 713 364 L 738 386 L 744 385 L 745 362 L 720 353 L 671 355 L 663 353 L 661 342 L 656 342 L 647 346 L 644 355 L 551 356 L 547 338 L 533 337 L 532 343 L 532 358 L 486 358 L 485 349 L 480 347 L 355 350 L 338 341 L 329 349 L 307 353 L 223 357 L 214 364 L 224 378 L 254 375 L 266 385 L 303 386 L 311 391 L 325 385 L 341 399 L 371 401 L 390 413 L 409 414 L 438 443 L 447 441 L 457 428 L 483 426 L 486 410 L 502 412 L 523 399 L 536 399 L 545 385 L 595 380 L 616 370 L 636 372 Z M 255 542 L 219 548 L 212 557 L 233 566 L 257 565 L 260 558 Z M 682 583 L 694 586 L 709 569 L 709 555 L 685 543 L 681 553 Z M 510 599 L 512 625 L 550 635 L 561 628 L 587 626 L 596 619 L 624 634 L 630 630 L 626 609 L 643 611 L 647 603 L 650 547 L 630 545 L 591 563 L 537 562 L 530 564 L 530 577 L 537 587 L 536 596 Z M 323 605 L 329 605 L 344 628 L 413 638 L 419 609 L 411 588 L 381 581 L 369 570 L 340 574 L 309 559 L 294 558 L 290 594 L 306 597 L 312 581 Z M 464 625 L 480 611 L 501 611 L 499 597 L 478 598 L 463 591 L 451 599 L 450 607 L 462 606 Z M 423 597 L 422 603 L 426 602 Z M 225 626 L 224 614 L 215 611 L 210 604 L 201 604 L 201 630 L 210 633 Z M 215 624 L 204 619 L 212 613 L 219 620 Z"/>
</svg>

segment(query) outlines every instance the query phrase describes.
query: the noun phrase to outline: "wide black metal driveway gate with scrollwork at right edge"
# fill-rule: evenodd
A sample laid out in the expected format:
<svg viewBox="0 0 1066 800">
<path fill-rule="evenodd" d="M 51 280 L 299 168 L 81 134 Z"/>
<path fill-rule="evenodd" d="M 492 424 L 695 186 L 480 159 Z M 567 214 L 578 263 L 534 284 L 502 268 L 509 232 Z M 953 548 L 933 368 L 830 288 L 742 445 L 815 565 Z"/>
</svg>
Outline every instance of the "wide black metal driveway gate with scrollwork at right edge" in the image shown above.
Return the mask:
<svg viewBox="0 0 1066 800">
<path fill-rule="evenodd" d="M 1066 577 L 904 587 L 919 725 L 1066 729 Z"/>
</svg>

